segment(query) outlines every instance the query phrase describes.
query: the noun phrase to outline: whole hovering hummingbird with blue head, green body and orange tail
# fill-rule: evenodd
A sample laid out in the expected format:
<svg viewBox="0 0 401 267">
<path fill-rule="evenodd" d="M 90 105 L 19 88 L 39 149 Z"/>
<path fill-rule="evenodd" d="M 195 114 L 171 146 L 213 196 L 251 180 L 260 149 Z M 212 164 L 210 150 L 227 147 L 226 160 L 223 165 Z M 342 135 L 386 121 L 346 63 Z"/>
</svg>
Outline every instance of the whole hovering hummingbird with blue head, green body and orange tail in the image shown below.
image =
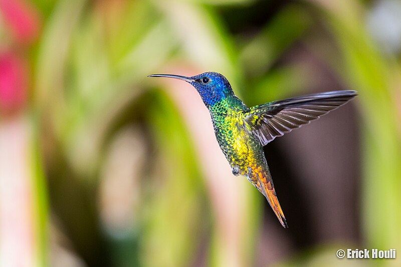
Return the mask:
<svg viewBox="0 0 401 267">
<path fill-rule="evenodd" d="M 233 92 L 229 81 L 216 72 L 192 77 L 153 74 L 191 84 L 212 117 L 217 141 L 233 174 L 246 175 L 266 197 L 284 228 L 287 226 L 277 199 L 263 146 L 278 136 L 318 119 L 356 96 L 356 91 L 334 91 L 289 98 L 248 108 Z"/>
</svg>

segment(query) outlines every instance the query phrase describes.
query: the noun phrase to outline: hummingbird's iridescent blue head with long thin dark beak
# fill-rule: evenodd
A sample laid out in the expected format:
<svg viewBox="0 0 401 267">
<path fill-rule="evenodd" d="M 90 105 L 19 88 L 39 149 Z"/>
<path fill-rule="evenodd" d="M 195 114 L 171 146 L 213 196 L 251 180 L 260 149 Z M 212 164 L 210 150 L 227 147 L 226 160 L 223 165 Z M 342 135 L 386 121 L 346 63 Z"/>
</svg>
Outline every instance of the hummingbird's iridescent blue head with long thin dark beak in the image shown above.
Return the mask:
<svg viewBox="0 0 401 267">
<path fill-rule="evenodd" d="M 226 77 L 217 72 L 205 72 L 192 77 L 171 74 L 153 74 L 148 77 L 167 77 L 188 82 L 195 87 L 207 107 L 234 94 Z"/>
</svg>

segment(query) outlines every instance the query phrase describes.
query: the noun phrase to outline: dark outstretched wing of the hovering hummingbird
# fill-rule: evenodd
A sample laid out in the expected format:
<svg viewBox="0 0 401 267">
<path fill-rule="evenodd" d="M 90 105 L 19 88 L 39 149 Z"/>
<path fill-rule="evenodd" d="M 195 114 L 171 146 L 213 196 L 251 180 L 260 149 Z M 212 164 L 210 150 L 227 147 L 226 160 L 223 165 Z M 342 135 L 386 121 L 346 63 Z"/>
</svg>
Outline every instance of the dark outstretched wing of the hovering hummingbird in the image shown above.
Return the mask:
<svg viewBox="0 0 401 267">
<path fill-rule="evenodd" d="M 334 91 L 289 98 L 252 107 L 245 120 L 266 145 L 277 136 L 318 119 L 356 96 L 356 91 Z"/>
</svg>

